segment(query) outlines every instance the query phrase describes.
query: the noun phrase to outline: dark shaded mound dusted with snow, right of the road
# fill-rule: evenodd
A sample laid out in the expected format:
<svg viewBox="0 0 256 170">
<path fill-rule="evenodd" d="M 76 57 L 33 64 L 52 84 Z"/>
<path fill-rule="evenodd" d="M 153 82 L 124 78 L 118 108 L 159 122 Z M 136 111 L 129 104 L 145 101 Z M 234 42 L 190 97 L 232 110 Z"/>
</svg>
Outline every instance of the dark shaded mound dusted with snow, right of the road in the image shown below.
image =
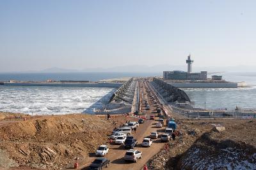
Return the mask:
<svg viewBox="0 0 256 170">
<path fill-rule="evenodd" d="M 256 148 L 230 139 L 220 141 L 218 132 L 203 134 L 182 154 L 177 169 L 256 169 Z"/>
</svg>

